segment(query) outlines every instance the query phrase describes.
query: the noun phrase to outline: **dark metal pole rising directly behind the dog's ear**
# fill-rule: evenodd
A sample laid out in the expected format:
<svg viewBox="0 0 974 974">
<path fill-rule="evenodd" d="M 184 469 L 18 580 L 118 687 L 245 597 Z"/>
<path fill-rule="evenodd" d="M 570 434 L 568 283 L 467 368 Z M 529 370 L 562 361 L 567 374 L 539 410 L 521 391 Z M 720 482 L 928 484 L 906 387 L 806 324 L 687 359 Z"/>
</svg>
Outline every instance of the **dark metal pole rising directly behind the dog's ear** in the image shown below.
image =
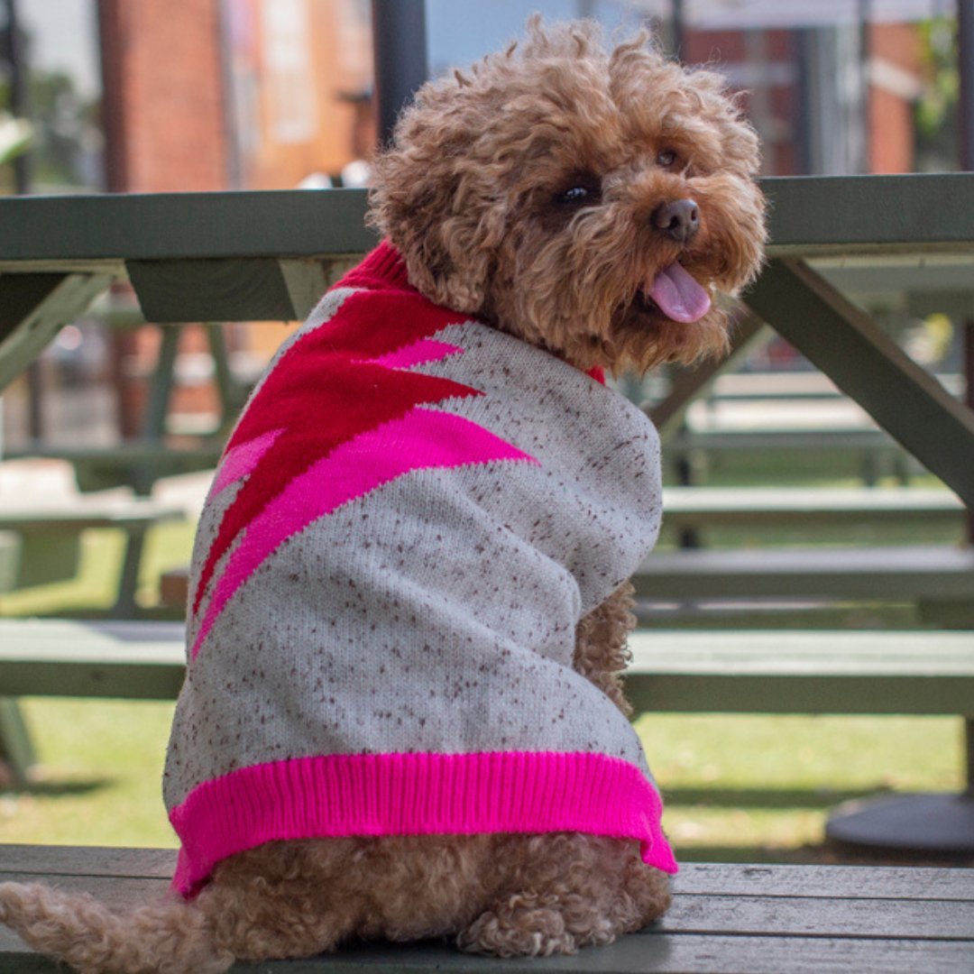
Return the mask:
<svg viewBox="0 0 974 974">
<path fill-rule="evenodd" d="M 425 0 L 372 0 L 376 117 L 388 143 L 399 112 L 427 80 Z"/>
</svg>

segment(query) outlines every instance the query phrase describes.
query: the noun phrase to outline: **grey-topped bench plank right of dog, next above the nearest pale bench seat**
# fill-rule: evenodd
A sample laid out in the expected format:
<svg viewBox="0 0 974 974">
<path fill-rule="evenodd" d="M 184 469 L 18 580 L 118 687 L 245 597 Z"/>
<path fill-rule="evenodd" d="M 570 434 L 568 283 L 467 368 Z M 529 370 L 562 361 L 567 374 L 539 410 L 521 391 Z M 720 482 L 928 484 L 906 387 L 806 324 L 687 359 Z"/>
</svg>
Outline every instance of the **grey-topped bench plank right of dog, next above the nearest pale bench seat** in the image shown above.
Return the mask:
<svg viewBox="0 0 974 974">
<path fill-rule="evenodd" d="M 640 598 L 974 599 L 974 550 L 946 546 L 656 551 L 633 577 Z"/>
</svg>

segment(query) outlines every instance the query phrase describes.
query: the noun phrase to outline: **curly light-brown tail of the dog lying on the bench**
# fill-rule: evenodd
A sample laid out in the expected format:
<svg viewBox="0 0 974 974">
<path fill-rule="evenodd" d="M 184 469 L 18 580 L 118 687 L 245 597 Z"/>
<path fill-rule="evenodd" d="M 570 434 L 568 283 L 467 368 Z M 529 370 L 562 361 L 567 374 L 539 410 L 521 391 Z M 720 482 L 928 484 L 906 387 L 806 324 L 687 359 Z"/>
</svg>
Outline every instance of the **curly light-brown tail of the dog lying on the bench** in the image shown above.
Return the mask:
<svg viewBox="0 0 974 974">
<path fill-rule="evenodd" d="M 217 974 L 234 959 L 214 947 L 205 912 L 175 896 L 116 913 L 87 893 L 4 882 L 0 921 L 81 974 Z"/>
</svg>

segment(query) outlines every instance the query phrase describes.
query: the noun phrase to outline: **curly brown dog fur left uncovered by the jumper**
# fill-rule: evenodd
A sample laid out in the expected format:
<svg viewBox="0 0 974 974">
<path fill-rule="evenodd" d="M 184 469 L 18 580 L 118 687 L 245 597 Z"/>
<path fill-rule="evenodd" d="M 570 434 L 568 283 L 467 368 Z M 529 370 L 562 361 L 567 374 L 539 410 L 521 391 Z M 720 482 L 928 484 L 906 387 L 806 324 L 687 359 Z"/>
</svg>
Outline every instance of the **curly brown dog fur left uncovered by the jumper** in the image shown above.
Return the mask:
<svg viewBox="0 0 974 974">
<path fill-rule="evenodd" d="M 715 74 L 639 36 L 611 52 L 591 23 L 529 23 L 527 42 L 431 82 L 375 170 L 371 220 L 433 301 L 584 369 L 719 355 L 726 318 L 677 324 L 641 292 L 679 259 L 732 293 L 760 266 L 754 132 Z M 673 161 L 669 161 L 669 153 Z M 661 162 L 662 161 L 662 162 Z M 559 197 L 582 185 L 582 206 Z M 650 219 L 693 198 L 678 244 Z M 629 712 L 623 586 L 581 620 L 575 665 Z M 611 942 L 667 907 L 636 843 L 578 834 L 267 843 L 221 863 L 192 902 L 116 913 L 90 897 L 0 885 L 0 920 L 82 972 L 215 972 L 235 958 L 313 955 L 352 937 L 450 937 L 498 956 Z"/>
</svg>

